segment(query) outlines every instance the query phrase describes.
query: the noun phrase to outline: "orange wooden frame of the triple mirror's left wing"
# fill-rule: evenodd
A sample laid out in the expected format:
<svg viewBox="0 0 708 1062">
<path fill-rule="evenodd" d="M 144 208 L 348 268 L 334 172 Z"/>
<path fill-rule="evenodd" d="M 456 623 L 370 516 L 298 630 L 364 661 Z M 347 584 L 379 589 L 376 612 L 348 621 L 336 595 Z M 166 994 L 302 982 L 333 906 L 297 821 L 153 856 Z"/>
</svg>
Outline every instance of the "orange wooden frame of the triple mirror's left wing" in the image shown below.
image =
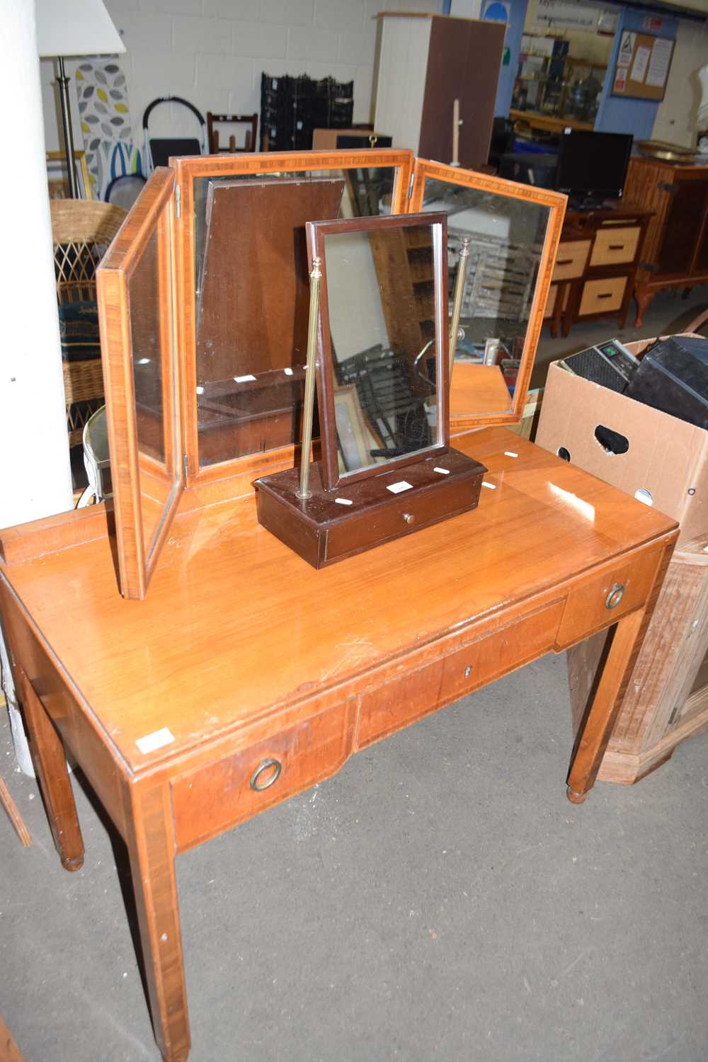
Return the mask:
<svg viewBox="0 0 708 1062">
<path fill-rule="evenodd" d="M 173 170 L 157 168 L 97 270 L 97 301 L 105 383 L 113 507 L 123 597 L 141 600 L 183 491 L 174 349 Z M 163 465 L 138 445 L 129 285 L 153 235 L 157 237 Z M 145 545 L 141 482 L 169 486 L 152 542 Z"/>
</svg>

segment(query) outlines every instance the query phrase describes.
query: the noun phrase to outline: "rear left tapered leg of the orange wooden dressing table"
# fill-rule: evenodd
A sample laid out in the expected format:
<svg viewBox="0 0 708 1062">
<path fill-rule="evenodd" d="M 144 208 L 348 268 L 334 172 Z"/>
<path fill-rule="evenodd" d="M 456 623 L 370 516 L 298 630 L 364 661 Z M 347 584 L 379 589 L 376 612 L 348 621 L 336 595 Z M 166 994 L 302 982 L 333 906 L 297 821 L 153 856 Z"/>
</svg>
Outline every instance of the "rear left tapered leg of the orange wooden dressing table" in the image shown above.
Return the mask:
<svg viewBox="0 0 708 1062">
<path fill-rule="evenodd" d="M 84 840 L 62 739 L 22 668 L 15 669 L 15 680 L 30 733 L 32 763 L 62 866 L 69 871 L 80 870 L 84 864 Z"/>
</svg>

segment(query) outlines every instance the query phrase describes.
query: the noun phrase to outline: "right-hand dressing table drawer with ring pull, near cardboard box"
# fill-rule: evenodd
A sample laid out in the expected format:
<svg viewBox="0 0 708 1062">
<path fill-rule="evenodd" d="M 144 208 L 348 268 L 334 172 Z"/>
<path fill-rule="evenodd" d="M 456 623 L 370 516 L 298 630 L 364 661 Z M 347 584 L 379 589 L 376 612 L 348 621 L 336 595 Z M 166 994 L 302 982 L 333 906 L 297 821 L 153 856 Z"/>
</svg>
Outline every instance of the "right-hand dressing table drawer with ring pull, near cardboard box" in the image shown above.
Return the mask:
<svg viewBox="0 0 708 1062">
<path fill-rule="evenodd" d="M 650 592 L 661 550 L 619 560 L 580 580 L 568 594 L 558 627 L 558 646 L 587 637 L 640 607 Z"/>
</svg>

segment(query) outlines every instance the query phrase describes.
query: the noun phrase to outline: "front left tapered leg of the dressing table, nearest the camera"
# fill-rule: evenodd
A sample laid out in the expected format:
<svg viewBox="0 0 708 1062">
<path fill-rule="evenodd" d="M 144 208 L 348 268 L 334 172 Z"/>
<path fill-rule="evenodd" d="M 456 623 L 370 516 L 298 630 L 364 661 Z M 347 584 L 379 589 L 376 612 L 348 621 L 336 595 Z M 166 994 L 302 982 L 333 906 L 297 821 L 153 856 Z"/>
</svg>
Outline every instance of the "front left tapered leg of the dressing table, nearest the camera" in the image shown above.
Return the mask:
<svg viewBox="0 0 708 1062">
<path fill-rule="evenodd" d="M 185 1062 L 191 1040 L 183 964 L 169 786 L 135 786 L 126 841 L 155 1040 L 165 1062 Z"/>
</svg>

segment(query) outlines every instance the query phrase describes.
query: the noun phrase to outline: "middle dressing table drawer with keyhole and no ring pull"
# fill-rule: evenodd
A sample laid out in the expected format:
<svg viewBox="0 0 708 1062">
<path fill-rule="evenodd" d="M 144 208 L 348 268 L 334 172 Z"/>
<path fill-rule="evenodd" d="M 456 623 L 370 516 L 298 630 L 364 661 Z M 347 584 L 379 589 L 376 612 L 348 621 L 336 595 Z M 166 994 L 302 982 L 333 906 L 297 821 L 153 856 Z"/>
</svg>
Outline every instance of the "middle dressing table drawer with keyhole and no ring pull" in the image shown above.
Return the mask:
<svg viewBox="0 0 708 1062">
<path fill-rule="evenodd" d="M 563 607 L 563 601 L 554 601 L 417 671 L 364 693 L 359 746 L 393 734 L 550 650 Z"/>
</svg>

